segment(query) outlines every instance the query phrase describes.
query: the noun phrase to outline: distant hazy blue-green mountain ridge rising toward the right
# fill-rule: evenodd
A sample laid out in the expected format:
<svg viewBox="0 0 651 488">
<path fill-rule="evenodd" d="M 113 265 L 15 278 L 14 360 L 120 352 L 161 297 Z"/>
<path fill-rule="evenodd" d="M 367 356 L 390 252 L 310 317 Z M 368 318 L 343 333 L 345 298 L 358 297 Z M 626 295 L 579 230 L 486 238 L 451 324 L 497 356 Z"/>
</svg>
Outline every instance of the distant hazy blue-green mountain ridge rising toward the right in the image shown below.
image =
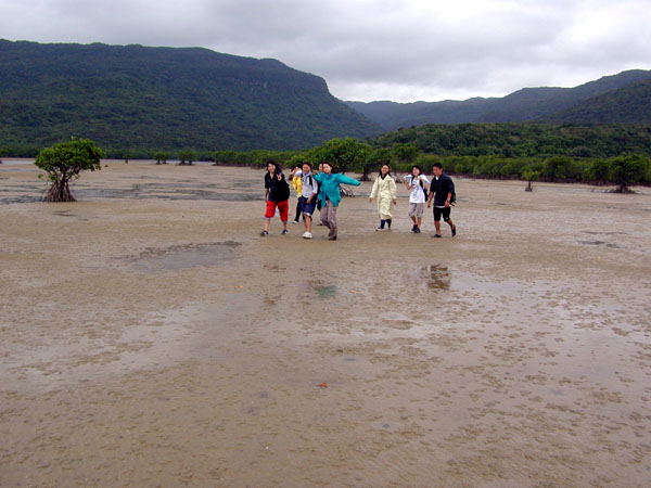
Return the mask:
<svg viewBox="0 0 651 488">
<path fill-rule="evenodd" d="M 651 100 L 644 81 L 651 72 L 631 69 L 605 76 L 575 88 L 524 88 L 503 98 L 469 99 L 444 102 L 346 102 L 350 107 L 387 130 L 425 124 L 501 123 L 501 121 L 580 121 L 583 124 L 646 124 Z M 624 91 L 621 91 L 624 90 Z M 614 97 L 616 91 L 621 91 Z M 647 93 L 647 94 L 644 94 Z M 613 97 L 610 97 L 613 95 Z M 622 102 L 624 104 L 622 105 Z M 563 118 L 565 111 L 587 104 L 598 105 L 596 119 L 588 117 L 592 108 Z M 574 118 L 573 118 L 574 117 Z"/>
</svg>

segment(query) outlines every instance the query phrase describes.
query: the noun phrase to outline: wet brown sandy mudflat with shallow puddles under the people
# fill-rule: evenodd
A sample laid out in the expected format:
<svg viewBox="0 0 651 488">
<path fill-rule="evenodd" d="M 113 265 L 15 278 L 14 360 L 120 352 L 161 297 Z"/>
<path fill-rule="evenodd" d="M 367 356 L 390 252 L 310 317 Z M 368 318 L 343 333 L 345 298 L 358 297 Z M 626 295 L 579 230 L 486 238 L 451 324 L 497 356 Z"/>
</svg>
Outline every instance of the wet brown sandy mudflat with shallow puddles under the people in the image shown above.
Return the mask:
<svg viewBox="0 0 651 488">
<path fill-rule="evenodd" d="M 36 175 L 0 166 L 0 486 L 651 485 L 650 189 L 456 179 L 434 240 L 363 183 L 329 242 L 258 235 L 261 171 Z"/>
</svg>

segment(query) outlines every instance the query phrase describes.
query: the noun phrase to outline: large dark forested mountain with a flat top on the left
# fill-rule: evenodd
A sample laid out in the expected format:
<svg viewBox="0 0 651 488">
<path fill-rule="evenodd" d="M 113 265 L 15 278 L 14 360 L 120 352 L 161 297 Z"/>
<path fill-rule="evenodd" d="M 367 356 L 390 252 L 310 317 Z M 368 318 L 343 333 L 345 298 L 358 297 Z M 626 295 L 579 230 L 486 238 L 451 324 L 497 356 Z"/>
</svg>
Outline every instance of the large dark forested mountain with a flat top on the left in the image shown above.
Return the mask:
<svg viewBox="0 0 651 488">
<path fill-rule="evenodd" d="M 71 136 L 110 152 L 291 150 L 382 129 L 323 79 L 200 48 L 0 40 L 0 146 Z"/>
</svg>

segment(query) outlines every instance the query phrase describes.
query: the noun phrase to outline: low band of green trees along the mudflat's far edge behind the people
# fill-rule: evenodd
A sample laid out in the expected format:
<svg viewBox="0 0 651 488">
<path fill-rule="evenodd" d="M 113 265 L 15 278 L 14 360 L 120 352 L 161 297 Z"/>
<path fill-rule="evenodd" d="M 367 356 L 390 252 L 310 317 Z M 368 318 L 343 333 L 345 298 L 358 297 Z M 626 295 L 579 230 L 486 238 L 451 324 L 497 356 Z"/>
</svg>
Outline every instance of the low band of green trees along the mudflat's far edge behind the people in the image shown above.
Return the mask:
<svg viewBox="0 0 651 488">
<path fill-rule="evenodd" d="M 0 157 L 37 153 L 27 145 L 0 145 Z M 153 157 L 157 164 L 178 159 L 179 164 L 188 165 L 203 160 L 251 167 L 264 167 L 269 159 L 285 167 L 305 160 L 312 164 L 329 160 L 340 171 L 361 174 L 362 180 L 382 163 L 405 172 L 413 164 L 430 171 L 434 163 L 442 163 L 447 172 L 475 178 L 611 183 L 622 190 L 628 184 L 651 183 L 651 126 L 429 125 L 365 141 L 332 139 L 302 151 L 186 149 L 175 153 L 106 149 L 104 153 L 110 158 L 125 160 Z"/>
</svg>

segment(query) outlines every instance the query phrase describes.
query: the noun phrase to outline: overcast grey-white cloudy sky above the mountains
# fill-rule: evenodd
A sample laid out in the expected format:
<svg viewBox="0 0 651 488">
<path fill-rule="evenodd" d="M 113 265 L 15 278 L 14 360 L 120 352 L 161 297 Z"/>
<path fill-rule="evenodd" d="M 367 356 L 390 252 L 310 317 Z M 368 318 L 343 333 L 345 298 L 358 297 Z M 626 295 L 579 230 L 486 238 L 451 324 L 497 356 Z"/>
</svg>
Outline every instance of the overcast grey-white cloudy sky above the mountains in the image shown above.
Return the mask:
<svg viewBox="0 0 651 488">
<path fill-rule="evenodd" d="M 342 100 L 465 100 L 651 68 L 651 0 L 0 0 L 0 38 L 275 57 Z"/>
</svg>

